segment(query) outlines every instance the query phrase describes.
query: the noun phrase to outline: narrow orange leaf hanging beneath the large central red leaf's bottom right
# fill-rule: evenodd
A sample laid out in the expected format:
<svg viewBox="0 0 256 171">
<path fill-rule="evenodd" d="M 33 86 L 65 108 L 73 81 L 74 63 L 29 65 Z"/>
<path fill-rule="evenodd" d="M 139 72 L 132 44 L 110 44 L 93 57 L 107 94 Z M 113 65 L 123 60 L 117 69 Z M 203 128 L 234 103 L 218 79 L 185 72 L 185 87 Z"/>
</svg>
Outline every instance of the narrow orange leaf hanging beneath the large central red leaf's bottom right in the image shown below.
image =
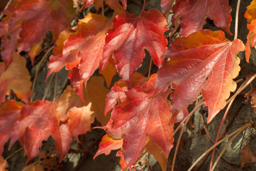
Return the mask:
<svg viewBox="0 0 256 171">
<path fill-rule="evenodd" d="M 167 161 L 168 159 L 164 156 L 163 151 L 161 151 L 156 144 L 154 143 L 154 141 L 150 138 L 150 136 L 147 136 L 146 139 L 146 145 L 144 146 L 144 148 L 146 149 L 146 151 L 149 154 L 153 154 L 154 158 L 156 159 L 156 161 L 159 162 L 161 168 L 163 171 L 166 171 L 166 165 L 167 165 Z"/>
</svg>

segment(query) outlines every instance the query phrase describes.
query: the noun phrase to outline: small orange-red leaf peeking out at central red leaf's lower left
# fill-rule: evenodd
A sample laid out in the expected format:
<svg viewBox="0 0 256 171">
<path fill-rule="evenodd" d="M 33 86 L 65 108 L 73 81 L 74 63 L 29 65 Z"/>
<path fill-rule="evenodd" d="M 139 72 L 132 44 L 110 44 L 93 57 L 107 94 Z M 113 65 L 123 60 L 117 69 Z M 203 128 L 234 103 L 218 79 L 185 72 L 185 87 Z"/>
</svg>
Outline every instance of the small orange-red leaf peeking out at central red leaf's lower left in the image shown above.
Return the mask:
<svg viewBox="0 0 256 171">
<path fill-rule="evenodd" d="M 105 153 L 105 155 L 109 155 L 111 150 L 117 150 L 122 148 L 123 140 L 122 139 L 114 139 L 109 134 L 106 134 L 102 137 L 102 140 L 99 144 L 99 149 L 93 156 L 93 159 L 95 157 L 99 156 L 100 154 Z"/>
</svg>

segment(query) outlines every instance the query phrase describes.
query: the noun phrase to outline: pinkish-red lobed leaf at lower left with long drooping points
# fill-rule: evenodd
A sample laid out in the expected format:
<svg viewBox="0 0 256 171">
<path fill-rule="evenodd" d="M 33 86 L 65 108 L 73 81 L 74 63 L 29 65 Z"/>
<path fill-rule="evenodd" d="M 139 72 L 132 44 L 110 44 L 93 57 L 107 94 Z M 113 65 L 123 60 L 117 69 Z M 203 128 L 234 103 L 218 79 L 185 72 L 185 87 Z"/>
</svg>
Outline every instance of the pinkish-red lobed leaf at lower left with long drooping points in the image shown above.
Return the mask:
<svg viewBox="0 0 256 171">
<path fill-rule="evenodd" d="M 60 154 L 60 161 L 69 151 L 72 135 L 69 127 L 59 124 L 58 113 L 56 112 L 57 101 L 39 101 L 27 103 L 21 110 L 21 117 L 15 123 L 14 131 L 10 138 L 10 146 L 24 136 L 24 148 L 28 154 L 28 161 L 36 157 L 38 148 L 42 141 L 47 140 L 51 135 L 55 140 L 56 151 Z"/>
</svg>

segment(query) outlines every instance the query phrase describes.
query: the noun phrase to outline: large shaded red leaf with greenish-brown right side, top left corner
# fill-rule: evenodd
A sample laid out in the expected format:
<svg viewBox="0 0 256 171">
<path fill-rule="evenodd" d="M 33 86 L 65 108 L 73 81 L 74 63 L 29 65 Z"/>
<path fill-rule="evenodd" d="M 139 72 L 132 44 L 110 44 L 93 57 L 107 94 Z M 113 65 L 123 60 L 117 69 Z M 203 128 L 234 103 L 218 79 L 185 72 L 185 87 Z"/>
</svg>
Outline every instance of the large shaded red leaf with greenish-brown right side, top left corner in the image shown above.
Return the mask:
<svg viewBox="0 0 256 171">
<path fill-rule="evenodd" d="M 33 43 L 39 43 L 49 30 L 55 42 L 59 33 L 70 26 L 75 10 L 72 8 L 72 0 L 15 0 L 2 13 L 12 14 L 8 29 L 17 27 L 14 30 L 18 30 L 15 34 L 8 33 L 9 44 L 15 45 L 20 53 L 30 50 Z M 0 23 L 3 24 L 5 23 Z"/>
</svg>

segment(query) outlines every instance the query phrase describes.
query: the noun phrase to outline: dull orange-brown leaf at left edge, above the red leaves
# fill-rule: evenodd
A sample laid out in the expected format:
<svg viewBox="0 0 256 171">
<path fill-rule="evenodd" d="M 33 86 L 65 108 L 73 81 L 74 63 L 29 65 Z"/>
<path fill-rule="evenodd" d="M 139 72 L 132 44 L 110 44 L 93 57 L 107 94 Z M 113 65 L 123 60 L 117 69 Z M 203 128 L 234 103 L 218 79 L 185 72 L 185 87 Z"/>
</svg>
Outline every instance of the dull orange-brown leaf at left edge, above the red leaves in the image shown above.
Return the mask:
<svg viewBox="0 0 256 171">
<path fill-rule="evenodd" d="M 28 69 L 26 68 L 26 59 L 13 53 L 13 62 L 5 68 L 0 63 L 0 103 L 5 101 L 5 95 L 10 95 L 9 91 L 13 90 L 18 98 L 24 102 L 28 102 L 31 95 L 31 81 Z"/>
</svg>

